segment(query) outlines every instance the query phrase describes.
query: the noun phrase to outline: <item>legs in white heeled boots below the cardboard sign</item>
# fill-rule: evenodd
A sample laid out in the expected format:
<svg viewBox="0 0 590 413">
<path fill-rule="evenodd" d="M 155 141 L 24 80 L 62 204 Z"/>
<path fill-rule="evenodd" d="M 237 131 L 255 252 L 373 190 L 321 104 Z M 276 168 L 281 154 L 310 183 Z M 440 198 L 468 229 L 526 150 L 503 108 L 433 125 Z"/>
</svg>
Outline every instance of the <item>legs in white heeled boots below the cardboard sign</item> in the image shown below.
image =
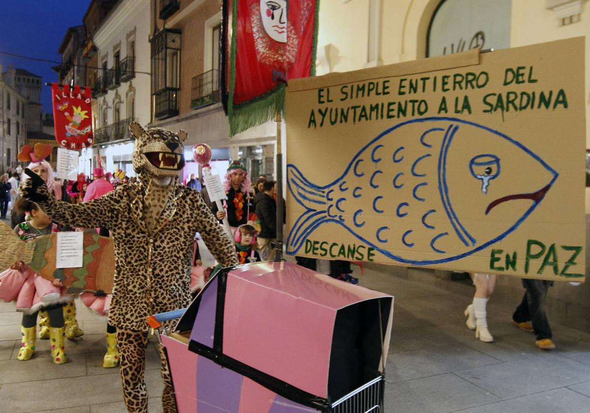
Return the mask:
<svg viewBox="0 0 590 413">
<path fill-rule="evenodd" d="M 467 306 L 464 313 L 467 317 L 467 327 L 470 330 L 476 330 L 476 339 L 491 343 L 494 337 L 487 329 L 486 305 L 496 287 L 496 274 L 473 273 L 470 276 L 473 285 L 476 286 L 476 294 L 473 297 L 473 303 Z"/>
</svg>

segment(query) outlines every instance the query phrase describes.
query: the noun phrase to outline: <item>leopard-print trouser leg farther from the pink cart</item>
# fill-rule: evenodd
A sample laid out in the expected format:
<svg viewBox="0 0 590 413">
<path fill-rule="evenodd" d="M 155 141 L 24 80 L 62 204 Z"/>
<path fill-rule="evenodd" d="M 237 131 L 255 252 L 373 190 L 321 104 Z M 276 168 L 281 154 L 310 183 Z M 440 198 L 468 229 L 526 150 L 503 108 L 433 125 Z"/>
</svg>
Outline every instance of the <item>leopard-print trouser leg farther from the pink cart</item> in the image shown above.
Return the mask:
<svg viewBox="0 0 590 413">
<path fill-rule="evenodd" d="M 144 380 L 148 332 L 117 330 L 123 399 L 127 410 L 148 412 L 148 391 Z"/>
</svg>

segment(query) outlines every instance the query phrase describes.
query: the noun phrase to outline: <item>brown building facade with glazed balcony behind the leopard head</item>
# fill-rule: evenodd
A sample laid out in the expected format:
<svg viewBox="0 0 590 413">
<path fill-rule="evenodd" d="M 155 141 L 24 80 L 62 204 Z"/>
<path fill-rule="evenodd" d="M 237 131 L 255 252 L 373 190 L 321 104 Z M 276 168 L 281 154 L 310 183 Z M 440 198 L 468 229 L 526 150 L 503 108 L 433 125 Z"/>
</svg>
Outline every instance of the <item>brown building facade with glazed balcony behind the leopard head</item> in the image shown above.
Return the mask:
<svg viewBox="0 0 590 413">
<path fill-rule="evenodd" d="M 192 146 L 205 142 L 214 160 L 242 159 L 251 176 L 274 175 L 276 123 L 234 137 L 219 101 L 221 1 L 152 0 L 152 119 L 149 126 L 188 132 L 185 176 Z"/>
</svg>

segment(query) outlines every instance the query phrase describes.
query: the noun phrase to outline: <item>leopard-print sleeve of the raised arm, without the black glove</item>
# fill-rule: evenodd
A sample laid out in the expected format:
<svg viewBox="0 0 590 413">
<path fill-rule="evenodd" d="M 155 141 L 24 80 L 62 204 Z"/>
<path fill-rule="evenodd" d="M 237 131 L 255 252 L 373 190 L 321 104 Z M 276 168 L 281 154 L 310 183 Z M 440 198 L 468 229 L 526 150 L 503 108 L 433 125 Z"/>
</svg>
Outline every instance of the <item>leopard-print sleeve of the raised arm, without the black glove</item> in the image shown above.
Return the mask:
<svg viewBox="0 0 590 413">
<path fill-rule="evenodd" d="M 110 227 L 117 215 L 117 205 L 121 204 L 124 197 L 121 189 L 81 204 L 60 201 L 55 196 L 37 204 L 45 214 L 62 225 L 81 228 Z"/>
</svg>

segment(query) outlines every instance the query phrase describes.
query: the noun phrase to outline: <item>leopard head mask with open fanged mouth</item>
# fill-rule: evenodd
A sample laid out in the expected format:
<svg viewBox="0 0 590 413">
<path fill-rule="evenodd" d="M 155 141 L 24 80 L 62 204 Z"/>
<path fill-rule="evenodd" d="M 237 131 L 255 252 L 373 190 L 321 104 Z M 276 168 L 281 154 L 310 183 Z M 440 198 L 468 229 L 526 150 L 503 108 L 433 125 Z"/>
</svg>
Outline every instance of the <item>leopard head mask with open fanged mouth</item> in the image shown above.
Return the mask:
<svg viewBox="0 0 590 413">
<path fill-rule="evenodd" d="M 135 137 L 133 168 L 142 181 L 153 177 L 178 178 L 185 165 L 184 130 L 176 133 L 159 127 L 145 130 L 137 122 L 129 124 L 129 130 Z"/>
</svg>

